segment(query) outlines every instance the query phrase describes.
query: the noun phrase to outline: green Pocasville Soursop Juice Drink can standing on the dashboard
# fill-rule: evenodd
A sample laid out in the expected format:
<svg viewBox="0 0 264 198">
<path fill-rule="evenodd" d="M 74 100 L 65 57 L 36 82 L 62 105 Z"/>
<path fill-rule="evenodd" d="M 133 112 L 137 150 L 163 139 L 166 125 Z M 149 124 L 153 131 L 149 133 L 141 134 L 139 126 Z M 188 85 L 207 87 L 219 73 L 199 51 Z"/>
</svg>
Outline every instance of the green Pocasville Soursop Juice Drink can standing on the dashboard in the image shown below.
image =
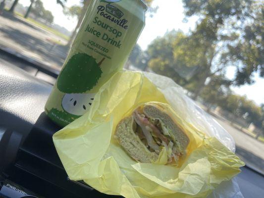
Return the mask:
<svg viewBox="0 0 264 198">
<path fill-rule="evenodd" d="M 46 103 L 66 126 L 89 111 L 100 87 L 122 69 L 145 26 L 142 0 L 92 0 Z"/>
</svg>

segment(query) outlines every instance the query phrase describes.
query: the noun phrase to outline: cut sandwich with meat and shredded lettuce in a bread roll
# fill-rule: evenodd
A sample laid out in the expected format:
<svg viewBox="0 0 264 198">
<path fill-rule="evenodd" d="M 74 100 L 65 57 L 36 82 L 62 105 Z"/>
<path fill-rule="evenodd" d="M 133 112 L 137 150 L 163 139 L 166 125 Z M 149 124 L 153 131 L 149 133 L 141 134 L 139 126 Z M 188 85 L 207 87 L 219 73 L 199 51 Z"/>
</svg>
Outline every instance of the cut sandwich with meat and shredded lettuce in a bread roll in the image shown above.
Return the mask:
<svg viewBox="0 0 264 198">
<path fill-rule="evenodd" d="M 165 148 L 167 165 L 178 165 L 186 155 L 190 141 L 182 127 L 174 121 L 174 116 L 166 104 L 145 103 L 118 123 L 114 137 L 139 162 L 157 161 Z"/>
</svg>

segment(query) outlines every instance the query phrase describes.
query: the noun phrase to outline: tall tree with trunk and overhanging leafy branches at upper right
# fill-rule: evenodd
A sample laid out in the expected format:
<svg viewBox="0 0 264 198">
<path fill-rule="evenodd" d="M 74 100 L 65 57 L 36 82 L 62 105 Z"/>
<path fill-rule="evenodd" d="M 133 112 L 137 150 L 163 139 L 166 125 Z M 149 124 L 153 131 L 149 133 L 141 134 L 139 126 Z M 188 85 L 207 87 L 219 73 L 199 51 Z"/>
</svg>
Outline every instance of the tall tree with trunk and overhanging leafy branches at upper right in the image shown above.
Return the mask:
<svg viewBox="0 0 264 198">
<path fill-rule="evenodd" d="M 183 0 L 187 17 L 198 15 L 200 23 L 188 38 L 204 55 L 195 97 L 199 96 L 213 70 L 237 66 L 235 84 L 252 83 L 253 72 L 264 76 L 263 10 L 255 0 Z M 217 58 L 219 57 L 219 58 Z M 198 58 L 195 56 L 195 58 Z M 218 64 L 216 63 L 218 62 Z"/>
</svg>

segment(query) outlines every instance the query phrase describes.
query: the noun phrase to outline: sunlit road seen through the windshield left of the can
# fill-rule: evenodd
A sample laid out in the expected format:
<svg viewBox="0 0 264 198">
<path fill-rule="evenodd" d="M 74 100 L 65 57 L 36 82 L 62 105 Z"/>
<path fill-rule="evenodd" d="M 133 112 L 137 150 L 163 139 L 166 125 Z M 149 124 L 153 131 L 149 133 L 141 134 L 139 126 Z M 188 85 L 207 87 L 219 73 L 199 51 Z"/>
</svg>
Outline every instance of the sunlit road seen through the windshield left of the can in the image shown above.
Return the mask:
<svg viewBox="0 0 264 198">
<path fill-rule="evenodd" d="M 58 44 L 59 43 L 59 44 Z M 24 18 L 0 15 L 0 48 L 10 48 L 42 64 L 59 69 L 67 55 L 67 41 Z"/>
</svg>

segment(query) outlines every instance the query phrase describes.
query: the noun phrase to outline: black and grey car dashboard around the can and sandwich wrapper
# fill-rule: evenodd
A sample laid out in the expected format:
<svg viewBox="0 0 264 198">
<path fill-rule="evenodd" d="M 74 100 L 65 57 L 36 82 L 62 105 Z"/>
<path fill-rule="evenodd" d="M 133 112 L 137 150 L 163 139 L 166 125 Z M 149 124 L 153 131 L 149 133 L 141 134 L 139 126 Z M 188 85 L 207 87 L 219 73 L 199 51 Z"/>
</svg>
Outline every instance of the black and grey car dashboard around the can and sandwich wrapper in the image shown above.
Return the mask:
<svg viewBox="0 0 264 198">
<path fill-rule="evenodd" d="M 63 167 L 53 144 L 62 127 L 44 111 L 60 70 L 1 45 L 0 55 L 0 198 L 122 198 L 70 180 Z M 264 173 L 250 163 L 235 179 L 244 198 L 264 197 Z"/>
</svg>

